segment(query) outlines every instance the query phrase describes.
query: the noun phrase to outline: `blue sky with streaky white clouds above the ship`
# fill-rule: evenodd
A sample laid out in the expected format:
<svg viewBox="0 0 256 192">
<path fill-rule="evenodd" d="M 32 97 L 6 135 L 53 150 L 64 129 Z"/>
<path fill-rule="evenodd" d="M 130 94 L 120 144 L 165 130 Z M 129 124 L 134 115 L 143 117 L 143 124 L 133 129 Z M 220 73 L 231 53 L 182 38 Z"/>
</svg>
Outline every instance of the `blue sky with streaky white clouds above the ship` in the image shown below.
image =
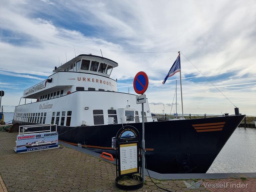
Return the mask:
<svg viewBox="0 0 256 192">
<path fill-rule="evenodd" d="M 135 93 L 139 71 L 149 77 L 151 111 L 171 111 L 175 80 L 161 82 L 181 51 L 240 113 L 256 115 L 255 1 L 2 0 L 0 89 L 5 111 L 23 90 L 46 79 L 76 55 L 118 62 L 111 77 L 119 92 Z M 143 52 L 143 53 L 142 53 Z M 147 53 L 146 53 L 147 52 Z M 184 113 L 234 114 L 230 103 L 181 55 Z M 180 88 L 177 108 L 181 113 Z M 175 99 L 174 99 L 175 103 Z"/>
</svg>

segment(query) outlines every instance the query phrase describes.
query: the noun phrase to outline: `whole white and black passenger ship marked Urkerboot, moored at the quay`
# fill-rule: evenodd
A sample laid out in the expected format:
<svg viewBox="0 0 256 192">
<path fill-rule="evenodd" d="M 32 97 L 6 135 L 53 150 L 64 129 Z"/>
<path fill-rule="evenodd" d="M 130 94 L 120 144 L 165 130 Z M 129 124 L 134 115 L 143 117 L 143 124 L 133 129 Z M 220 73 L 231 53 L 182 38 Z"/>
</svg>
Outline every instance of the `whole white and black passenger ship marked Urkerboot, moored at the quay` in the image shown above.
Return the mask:
<svg viewBox="0 0 256 192">
<path fill-rule="evenodd" d="M 136 95 L 118 92 L 117 81 L 110 78 L 117 66 L 90 54 L 55 67 L 48 79 L 24 91 L 23 99 L 37 101 L 16 106 L 13 123 L 57 124 L 59 140 L 115 154 L 111 138 L 123 125 L 142 132 Z M 159 173 L 205 173 L 244 118 L 238 114 L 157 122 L 148 100 L 144 111 L 147 166 Z"/>
</svg>

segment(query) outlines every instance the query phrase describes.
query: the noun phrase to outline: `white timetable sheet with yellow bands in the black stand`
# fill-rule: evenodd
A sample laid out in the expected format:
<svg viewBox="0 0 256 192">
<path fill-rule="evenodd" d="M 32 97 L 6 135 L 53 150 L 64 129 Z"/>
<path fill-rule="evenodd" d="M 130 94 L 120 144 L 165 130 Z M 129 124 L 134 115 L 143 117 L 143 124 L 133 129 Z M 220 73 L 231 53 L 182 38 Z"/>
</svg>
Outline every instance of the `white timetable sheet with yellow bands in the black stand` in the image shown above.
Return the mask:
<svg viewBox="0 0 256 192">
<path fill-rule="evenodd" d="M 137 143 L 120 144 L 120 175 L 138 172 Z"/>
</svg>

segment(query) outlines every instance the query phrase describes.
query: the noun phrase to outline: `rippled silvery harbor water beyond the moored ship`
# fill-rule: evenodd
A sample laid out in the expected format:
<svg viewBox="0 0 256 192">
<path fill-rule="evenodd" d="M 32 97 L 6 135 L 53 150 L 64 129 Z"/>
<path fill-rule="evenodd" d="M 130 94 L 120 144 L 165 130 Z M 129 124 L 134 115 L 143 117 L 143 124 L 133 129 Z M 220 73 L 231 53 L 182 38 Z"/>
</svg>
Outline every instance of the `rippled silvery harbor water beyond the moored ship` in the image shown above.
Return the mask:
<svg viewBox="0 0 256 192">
<path fill-rule="evenodd" d="M 13 113 L 4 113 L 4 118 L 11 121 Z M 245 172 L 256 172 L 256 129 L 238 127 L 207 173 Z"/>
</svg>

